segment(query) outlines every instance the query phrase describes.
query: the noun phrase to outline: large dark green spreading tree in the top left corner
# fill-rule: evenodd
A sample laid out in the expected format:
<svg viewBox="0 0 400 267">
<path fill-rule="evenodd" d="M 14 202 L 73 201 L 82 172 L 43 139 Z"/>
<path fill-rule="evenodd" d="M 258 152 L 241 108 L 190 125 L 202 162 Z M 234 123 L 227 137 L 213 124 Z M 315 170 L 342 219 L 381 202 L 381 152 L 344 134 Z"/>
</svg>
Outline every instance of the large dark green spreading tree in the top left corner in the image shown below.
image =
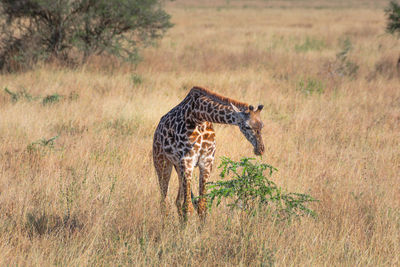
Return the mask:
<svg viewBox="0 0 400 267">
<path fill-rule="evenodd" d="M 172 26 L 161 0 L 0 0 L 0 69 L 38 60 L 129 61 Z"/>
</svg>

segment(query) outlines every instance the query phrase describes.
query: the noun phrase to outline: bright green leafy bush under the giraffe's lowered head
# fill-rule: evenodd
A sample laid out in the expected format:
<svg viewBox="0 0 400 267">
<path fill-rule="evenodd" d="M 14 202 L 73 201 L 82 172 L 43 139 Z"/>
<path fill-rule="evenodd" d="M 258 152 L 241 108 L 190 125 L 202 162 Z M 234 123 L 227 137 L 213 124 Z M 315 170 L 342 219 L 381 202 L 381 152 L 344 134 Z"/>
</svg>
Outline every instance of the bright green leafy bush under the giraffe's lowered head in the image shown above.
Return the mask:
<svg viewBox="0 0 400 267">
<path fill-rule="evenodd" d="M 208 208 L 211 209 L 214 201 L 220 205 L 222 199 L 228 199 L 228 206 L 240 209 L 249 214 L 264 212 L 281 220 L 291 220 L 294 217 L 312 216 L 316 213 L 307 207 L 307 204 L 316 201 L 307 194 L 286 193 L 269 176 L 277 171 L 276 168 L 265 163 L 253 163 L 252 158 L 242 158 L 235 162 L 223 157 L 218 168 L 222 168 L 221 178 L 233 176 L 231 180 L 209 182 L 207 195 Z"/>
</svg>

